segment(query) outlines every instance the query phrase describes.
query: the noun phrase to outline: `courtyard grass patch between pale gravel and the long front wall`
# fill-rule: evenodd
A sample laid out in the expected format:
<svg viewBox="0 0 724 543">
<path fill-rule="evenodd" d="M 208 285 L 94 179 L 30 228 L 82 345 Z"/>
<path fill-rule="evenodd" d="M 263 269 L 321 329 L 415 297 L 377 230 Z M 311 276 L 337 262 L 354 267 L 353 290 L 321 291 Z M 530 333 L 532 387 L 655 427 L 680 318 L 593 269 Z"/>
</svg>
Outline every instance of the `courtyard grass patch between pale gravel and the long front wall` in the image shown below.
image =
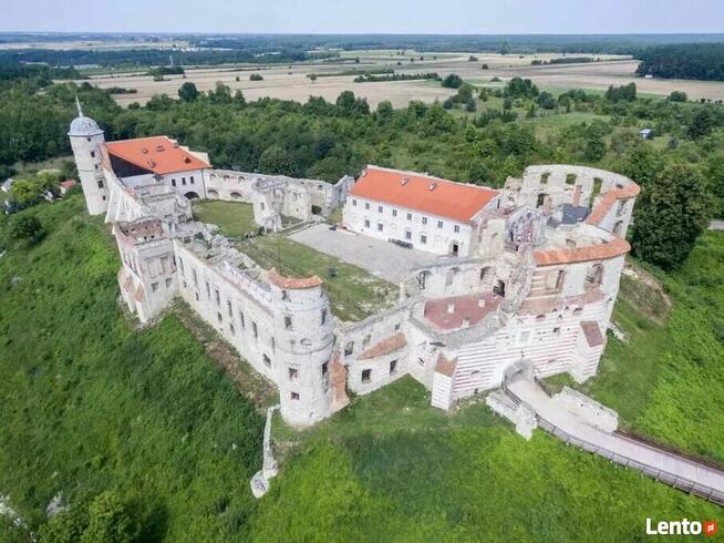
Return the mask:
<svg viewBox="0 0 724 543">
<path fill-rule="evenodd" d="M 285 275 L 318 275 L 324 281 L 332 313 L 342 320 L 363 319 L 397 299 L 395 285 L 288 237 L 256 237 L 240 243 L 239 250 L 263 268 L 276 267 Z M 330 268 L 337 269 L 335 277 Z"/>
</svg>

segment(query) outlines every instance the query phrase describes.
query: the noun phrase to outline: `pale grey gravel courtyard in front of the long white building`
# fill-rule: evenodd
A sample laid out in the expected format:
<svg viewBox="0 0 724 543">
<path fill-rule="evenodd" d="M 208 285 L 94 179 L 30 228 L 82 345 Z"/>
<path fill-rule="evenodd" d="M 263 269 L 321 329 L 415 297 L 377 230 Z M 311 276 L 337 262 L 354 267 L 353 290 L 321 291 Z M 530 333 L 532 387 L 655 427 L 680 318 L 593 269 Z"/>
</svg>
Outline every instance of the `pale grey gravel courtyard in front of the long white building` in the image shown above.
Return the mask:
<svg viewBox="0 0 724 543">
<path fill-rule="evenodd" d="M 416 249 L 406 249 L 389 242 L 373 239 L 343 229 L 330 230 L 318 224 L 289 236 L 294 242 L 335 256 L 372 275 L 400 283 L 413 269 L 437 262 L 441 257 Z"/>
</svg>

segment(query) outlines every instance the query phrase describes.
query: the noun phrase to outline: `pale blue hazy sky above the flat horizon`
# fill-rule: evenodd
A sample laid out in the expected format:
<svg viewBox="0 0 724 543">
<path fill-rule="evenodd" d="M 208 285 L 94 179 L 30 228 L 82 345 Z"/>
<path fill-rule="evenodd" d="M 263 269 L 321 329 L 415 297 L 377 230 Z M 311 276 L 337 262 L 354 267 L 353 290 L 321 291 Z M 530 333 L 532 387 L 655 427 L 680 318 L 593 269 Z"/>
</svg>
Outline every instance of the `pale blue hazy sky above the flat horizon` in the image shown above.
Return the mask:
<svg viewBox="0 0 724 543">
<path fill-rule="evenodd" d="M 1 0 L 0 31 L 722 32 L 724 0 Z"/>
</svg>

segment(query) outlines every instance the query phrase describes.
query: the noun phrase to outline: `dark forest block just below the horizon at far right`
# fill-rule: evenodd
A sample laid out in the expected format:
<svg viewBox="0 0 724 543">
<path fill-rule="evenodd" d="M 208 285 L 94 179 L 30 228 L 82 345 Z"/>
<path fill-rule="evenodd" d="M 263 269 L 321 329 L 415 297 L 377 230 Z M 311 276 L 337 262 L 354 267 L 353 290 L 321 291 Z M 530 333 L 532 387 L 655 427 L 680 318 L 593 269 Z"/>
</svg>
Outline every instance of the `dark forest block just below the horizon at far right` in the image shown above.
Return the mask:
<svg viewBox="0 0 724 543">
<path fill-rule="evenodd" d="M 637 73 L 654 78 L 724 81 L 724 43 L 680 43 L 643 49 Z"/>
</svg>

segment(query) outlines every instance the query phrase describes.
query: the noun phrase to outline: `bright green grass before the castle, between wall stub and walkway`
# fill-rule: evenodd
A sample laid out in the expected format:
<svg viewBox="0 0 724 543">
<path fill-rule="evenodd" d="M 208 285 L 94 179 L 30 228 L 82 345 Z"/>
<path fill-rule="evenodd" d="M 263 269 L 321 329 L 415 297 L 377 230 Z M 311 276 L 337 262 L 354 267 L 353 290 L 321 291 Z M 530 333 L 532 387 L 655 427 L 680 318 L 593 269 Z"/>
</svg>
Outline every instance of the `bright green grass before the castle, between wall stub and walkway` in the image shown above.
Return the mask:
<svg viewBox="0 0 724 543">
<path fill-rule="evenodd" d="M 437 411 L 410 378 L 296 437 L 251 541 L 635 541 L 647 516 L 722 512 L 542 431 L 526 442 L 482 402 Z"/>
</svg>

